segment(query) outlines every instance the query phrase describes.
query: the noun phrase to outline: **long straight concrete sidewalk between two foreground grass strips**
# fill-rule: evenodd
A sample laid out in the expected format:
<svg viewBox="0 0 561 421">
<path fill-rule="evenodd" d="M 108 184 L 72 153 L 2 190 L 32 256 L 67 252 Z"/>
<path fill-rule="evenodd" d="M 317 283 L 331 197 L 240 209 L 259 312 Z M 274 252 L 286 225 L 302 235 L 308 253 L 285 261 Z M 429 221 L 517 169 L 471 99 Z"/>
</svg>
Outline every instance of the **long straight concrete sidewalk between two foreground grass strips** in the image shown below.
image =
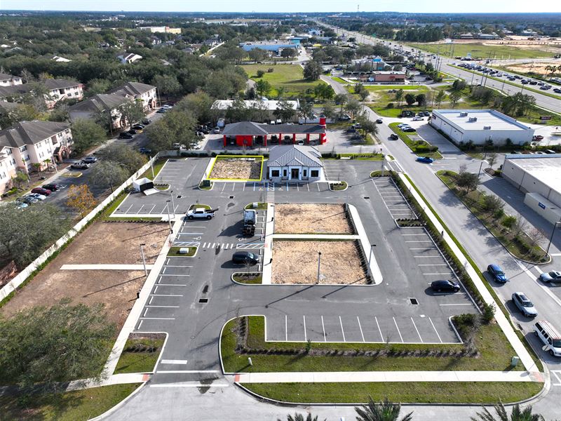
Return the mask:
<svg viewBox="0 0 561 421">
<path fill-rule="evenodd" d="M 238 373 L 237 383 L 340 383 L 340 382 L 543 382 L 527 371 L 326 371 Z"/>
</svg>

